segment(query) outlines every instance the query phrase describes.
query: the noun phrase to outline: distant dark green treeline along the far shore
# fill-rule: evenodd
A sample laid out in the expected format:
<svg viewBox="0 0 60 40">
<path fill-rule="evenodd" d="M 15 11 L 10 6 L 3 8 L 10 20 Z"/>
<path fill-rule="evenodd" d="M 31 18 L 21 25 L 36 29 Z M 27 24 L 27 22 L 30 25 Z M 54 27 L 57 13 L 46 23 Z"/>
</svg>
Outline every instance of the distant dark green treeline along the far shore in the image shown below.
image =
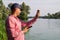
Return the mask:
<svg viewBox="0 0 60 40">
<path fill-rule="evenodd" d="M 28 18 L 34 18 L 34 17 L 28 17 Z M 44 18 L 44 19 L 60 19 L 60 11 L 56 13 L 48 13 L 45 16 L 40 16 L 39 18 Z"/>
</svg>

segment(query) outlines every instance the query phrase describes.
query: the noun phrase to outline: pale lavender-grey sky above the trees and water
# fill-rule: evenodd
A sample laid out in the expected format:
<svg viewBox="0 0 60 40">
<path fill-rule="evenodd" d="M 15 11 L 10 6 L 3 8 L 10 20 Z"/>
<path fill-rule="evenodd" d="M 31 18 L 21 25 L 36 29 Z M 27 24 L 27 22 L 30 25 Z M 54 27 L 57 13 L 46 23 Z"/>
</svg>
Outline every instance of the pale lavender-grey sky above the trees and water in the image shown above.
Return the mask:
<svg viewBox="0 0 60 40">
<path fill-rule="evenodd" d="M 60 11 L 60 0 L 3 0 L 6 7 L 9 3 L 22 4 L 22 2 L 25 2 L 31 8 L 29 16 L 35 16 L 37 9 L 40 10 L 41 16 Z"/>
</svg>

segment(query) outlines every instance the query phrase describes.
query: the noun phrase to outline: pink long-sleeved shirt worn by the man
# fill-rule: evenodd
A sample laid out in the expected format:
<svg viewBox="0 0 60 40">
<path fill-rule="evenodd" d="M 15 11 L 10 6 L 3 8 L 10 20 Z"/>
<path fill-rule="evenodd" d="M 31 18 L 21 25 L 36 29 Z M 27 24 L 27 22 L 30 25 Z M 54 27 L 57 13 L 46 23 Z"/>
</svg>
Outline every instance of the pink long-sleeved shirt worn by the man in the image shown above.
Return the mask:
<svg viewBox="0 0 60 40">
<path fill-rule="evenodd" d="M 8 40 L 25 40 L 24 33 L 21 30 L 22 27 L 31 26 L 37 18 L 34 18 L 28 22 L 23 22 L 13 15 L 8 16 L 6 19 L 6 31 Z"/>
</svg>

